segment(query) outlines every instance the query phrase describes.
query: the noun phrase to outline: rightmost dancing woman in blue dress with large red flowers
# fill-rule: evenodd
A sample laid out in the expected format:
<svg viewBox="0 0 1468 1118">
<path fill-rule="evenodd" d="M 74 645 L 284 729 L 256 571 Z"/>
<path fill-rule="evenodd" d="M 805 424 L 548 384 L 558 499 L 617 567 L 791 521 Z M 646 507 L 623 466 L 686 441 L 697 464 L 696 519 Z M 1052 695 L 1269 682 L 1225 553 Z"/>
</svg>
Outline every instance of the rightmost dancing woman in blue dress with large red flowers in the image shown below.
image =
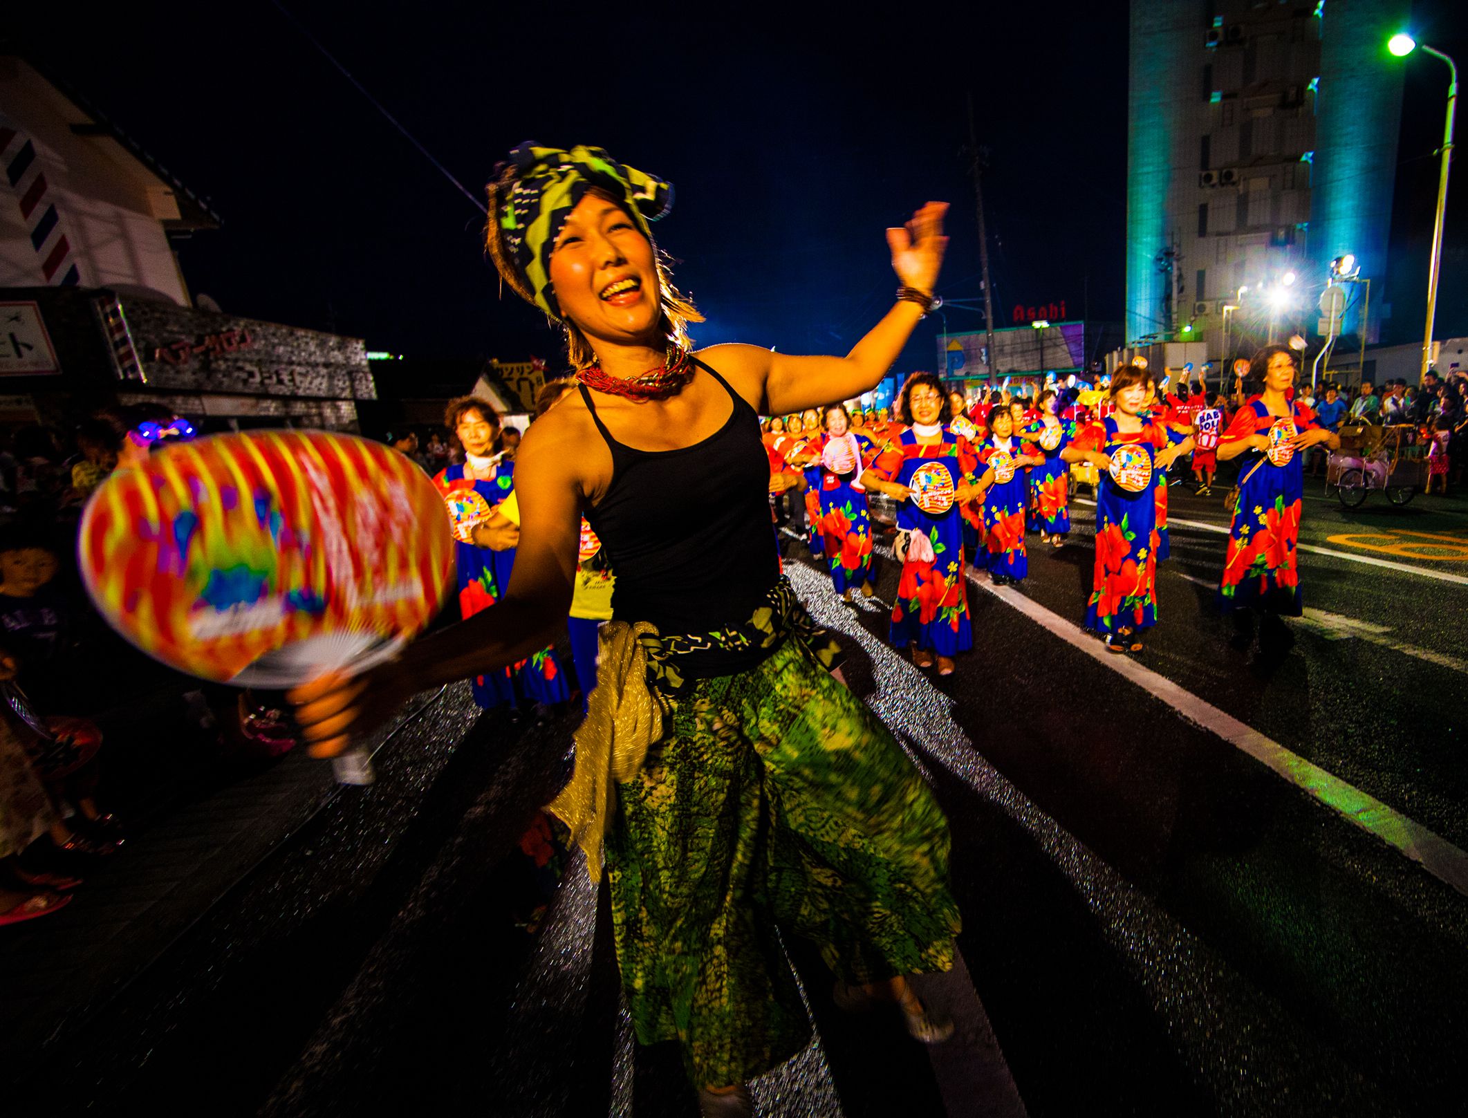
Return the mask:
<svg viewBox="0 0 1468 1118">
<path fill-rule="evenodd" d="M 1243 456 L 1239 499 L 1229 528 L 1229 550 L 1218 585 L 1218 600 L 1235 613 L 1239 640 L 1252 638 L 1251 610 L 1264 616 L 1261 637 L 1287 640 L 1280 618 L 1301 615 L 1299 512 L 1304 496 L 1304 450 L 1324 445 L 1336 450 L 1340 436 L 1326 430 L 1315 412 L 1290 399 L 1299 374 L 1295 351 L 1264 346 L 1249 361 L 1258 389 L 1235 414 L 1218 442 L 1218 458 Z"/>
</svg>

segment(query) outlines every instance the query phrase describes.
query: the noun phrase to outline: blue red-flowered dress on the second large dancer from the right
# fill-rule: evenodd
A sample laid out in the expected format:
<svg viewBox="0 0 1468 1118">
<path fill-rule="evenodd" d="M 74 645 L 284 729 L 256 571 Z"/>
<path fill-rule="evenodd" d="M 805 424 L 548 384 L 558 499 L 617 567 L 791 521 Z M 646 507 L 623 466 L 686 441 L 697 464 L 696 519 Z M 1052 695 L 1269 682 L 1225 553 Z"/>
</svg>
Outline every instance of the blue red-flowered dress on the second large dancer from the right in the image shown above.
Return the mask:
<svg viewBox="0 0 1468 1118">
<path fill-rule="evenodd" d="M 1130 461 L 1122 484 L 1100 472 L 1097 492 L 1097 558 L 1085 626 L 1111 634 L 1157 624 L 1157 452 L 1167 446 L 1167 428 L 1144 420 L 1142 430 L 1123 434 L 1116 418 L 1088 424 L 1072 447 L 1100 450 Z"/>
</svg>

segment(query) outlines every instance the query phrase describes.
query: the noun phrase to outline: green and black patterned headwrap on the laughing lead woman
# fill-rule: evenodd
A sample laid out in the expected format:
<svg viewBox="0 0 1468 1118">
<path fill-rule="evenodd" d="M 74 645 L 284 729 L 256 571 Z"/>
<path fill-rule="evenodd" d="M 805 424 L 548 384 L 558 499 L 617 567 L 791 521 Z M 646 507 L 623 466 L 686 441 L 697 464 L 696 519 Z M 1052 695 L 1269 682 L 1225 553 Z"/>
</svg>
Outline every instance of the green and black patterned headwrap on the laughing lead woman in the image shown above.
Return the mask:
<svg viewBox="0 0 1468 1118">
<path fill-rule="evenodd" d="M 509 153 L 518 180 L 499 207 L 501 241 L 534 292 L 536 305 L 561 317 L 550 283 L 550 249 L 567 214 L 592 188 L 600 188 L 627 205 L 643 236 L 652 241 L 649 222 L 672 210 L 672 183 L 617 163 L 600 148 L 543 148 L 526 141 Z"/>
</svg>

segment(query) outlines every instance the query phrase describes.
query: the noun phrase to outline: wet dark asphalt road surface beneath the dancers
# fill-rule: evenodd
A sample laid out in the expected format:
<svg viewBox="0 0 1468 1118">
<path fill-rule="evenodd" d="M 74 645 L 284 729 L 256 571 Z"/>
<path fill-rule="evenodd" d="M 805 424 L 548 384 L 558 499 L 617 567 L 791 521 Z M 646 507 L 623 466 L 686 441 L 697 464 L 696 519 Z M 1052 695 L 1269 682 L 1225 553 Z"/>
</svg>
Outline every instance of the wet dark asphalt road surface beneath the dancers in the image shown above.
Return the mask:
<svg viewBox="0 0 1468 1118">
<path fill-rule="evenodd" d="M 1174 524 L 1226 525 L 1221 489 L 1171 493 Z M 1075 506 L 1058 553 L 1031 537 L 1020 588 L 1070 621 L 1089 512 Z M 1468 845 L 1468 585 L 1421 572 L 1468 562 L 1405 546 L 1436 536 L 1468 540 L 1468 505 L 1307 500 L 1302 543 L 1421 569 L 1305 553 L 1320 613 L 1271 657 L 1230 647 L 1211 610 L 1223 534 L 1177 525 L 1141 662 Z M 981 1005 L 1003 1059 L 991 1096 L 956 1087 L 978 1081 L 973 1036 L 944 1064 L 846 1018 L 788 945 L 819 1039 L 757 1084 L 762 1114 L 1016 1112 L 994 1086 L 1007 1075 L 1032 1115 L 1468 1114 L 1468 896 L 982 585 L 978 650 L 940 681 L 885 646 L 890 559 L 878 599 L 846 606 L 788 550 L 850 685 L 948 811 L 966 976 L 934 996 Z M 534 938 L 506 908 L 523 883 L 505 851 L 564 773 L 568 729 L 476 717 L 451 688 L 382 750 L 377 785 L 289 836 L 16 1097 L 57 1114 L 693 1114 L 675 1053 L 625 1034 L 605 895 L 568 879 Z"/>
</svg>

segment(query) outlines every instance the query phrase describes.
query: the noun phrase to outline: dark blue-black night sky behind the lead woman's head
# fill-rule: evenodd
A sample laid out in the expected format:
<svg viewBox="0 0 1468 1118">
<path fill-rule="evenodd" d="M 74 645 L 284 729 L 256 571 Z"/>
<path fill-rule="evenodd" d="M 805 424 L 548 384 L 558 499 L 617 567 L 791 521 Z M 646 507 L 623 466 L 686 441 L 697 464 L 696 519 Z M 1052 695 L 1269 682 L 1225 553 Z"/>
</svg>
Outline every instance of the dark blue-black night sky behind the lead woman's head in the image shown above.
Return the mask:
<svg viewBox="0 0 1468 1118">
<path fill-rule="evenodd" d="M 969 95 L 991 161 L 995 324 L 1061 299 L 1073 318 L 1122 315 L 1124 3 L 913 6 L 909 21 L 854 4 L 288 7 L 476 198 L 523 139 L 600 145 L 669 179 L 677 204 L 655 232 L 708 314 L 700 343 L 846 352 L 891 302 L 882 229 L 928 198 L 953 202 L 941 293 L 981 298 Z M 1461 10 L 1418 3 L 1420 38 L 1468 48 Z M 85 19 L 32 7 L 19 31 L 220 213 L 220 230 L 181 251 L 195 293 L 371 349 L 556 358 L 545 320 L 498 296 L 483 214 L 270 0 Z M 1409 63 L 1389 323 L 1400 340 L 1421 330 L 1412 292 L 1446 85 L 1439 63 Z M 1458 173 L 1439 321 L 1468 333 L 1468 166 Z M 982 327 L 960 308 L 947 321 Z M 900 371 L 931 364 L 940 324 L 919 326 Z"/>
</svg>

